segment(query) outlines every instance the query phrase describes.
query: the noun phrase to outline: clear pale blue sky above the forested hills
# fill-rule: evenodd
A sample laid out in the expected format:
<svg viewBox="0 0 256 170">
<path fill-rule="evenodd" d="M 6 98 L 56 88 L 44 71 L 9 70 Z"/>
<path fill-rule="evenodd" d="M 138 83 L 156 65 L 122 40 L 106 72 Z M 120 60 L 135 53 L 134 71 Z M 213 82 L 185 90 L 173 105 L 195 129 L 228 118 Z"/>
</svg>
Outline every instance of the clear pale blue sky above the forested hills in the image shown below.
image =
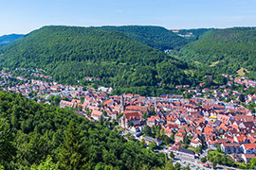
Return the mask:
<svg viewBox="0 0 256 170">
<path fill-rule="evenodd" d="M 256 26 L 256 0 L 0 0 L 0 36 L 41 26 Z"/>
</svg>

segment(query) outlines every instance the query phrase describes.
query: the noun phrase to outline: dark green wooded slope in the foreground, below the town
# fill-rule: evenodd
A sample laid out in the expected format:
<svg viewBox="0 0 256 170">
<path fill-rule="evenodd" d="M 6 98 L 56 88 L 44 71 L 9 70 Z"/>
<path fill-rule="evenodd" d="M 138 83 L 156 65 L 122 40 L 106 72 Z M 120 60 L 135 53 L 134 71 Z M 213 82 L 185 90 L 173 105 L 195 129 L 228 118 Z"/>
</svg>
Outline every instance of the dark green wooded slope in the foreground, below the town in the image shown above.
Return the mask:
<svg viewBox="0 0 256 170">
<path fill-rule="evenodd" d="M 0 167 L 139 170 L 165 165 L 164 154 L 127 142 L 114 124 L 94 124 L 72 110 L 0 90 Z"/>
</svg>

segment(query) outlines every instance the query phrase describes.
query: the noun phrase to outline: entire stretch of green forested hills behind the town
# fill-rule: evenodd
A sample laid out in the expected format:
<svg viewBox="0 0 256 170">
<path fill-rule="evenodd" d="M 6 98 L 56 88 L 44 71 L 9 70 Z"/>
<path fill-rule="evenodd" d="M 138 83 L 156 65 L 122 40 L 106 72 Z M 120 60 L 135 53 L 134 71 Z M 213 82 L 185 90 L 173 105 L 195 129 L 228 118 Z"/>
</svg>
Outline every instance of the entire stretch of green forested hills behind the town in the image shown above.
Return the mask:
<svg viewBox="0 0 256 170">
<path fill-rule="evenodd" d="M 223 85 L 227 79 L 221 74 L 238 70 L 256 78 L 256 28 L 178 33 L 191 32 L 193 37 L 182 38 L 160 26 L 44 26 L 2 48 L 0 68 L 44 69 L 59 83 L 147 96 L 182 93 L 176 85 Z M 88 76 L 100 80 L 91 83 Z"/>
</svg>

